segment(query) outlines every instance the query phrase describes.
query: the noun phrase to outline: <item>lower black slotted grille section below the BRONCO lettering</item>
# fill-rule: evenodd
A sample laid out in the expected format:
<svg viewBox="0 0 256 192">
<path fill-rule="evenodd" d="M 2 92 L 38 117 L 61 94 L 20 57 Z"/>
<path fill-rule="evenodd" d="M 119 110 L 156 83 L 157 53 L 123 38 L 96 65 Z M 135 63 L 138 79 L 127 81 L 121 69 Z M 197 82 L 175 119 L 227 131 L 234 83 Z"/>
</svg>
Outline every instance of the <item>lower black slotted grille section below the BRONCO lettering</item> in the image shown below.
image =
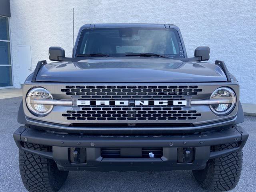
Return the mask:
<svg viewBox="0 0 256 192">
<path fill-rule="evenodd" d="M 196 110 L 184 107 L 82 107 L 68 110 L 67 120 L 196 120 Z"/>
</svg>

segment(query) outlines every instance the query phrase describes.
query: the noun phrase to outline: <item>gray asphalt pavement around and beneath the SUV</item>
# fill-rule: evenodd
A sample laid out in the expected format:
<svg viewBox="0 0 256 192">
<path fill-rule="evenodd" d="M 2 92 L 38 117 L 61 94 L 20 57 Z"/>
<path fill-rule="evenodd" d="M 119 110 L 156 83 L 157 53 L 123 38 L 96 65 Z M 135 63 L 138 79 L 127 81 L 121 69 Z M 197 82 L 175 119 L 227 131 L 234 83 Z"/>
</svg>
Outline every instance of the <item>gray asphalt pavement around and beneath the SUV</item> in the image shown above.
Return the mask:
<svg viewBox="0 0 256 192">
<path fill-rule="evenodd" d="M 0 100 L 0 191 L 26 192 L 19 168 L 18 148 L 12 133 L 18 128 L 21 97 Z M 232 192 L 256 191 L 256 117 L 246 116 L 241 124 L 250 134 L 244 148 L 243 170 Z M 202 192 L 191 171 L 166 172 L 88 172 L 71 171 L 60 192 Z"/>
</svg>

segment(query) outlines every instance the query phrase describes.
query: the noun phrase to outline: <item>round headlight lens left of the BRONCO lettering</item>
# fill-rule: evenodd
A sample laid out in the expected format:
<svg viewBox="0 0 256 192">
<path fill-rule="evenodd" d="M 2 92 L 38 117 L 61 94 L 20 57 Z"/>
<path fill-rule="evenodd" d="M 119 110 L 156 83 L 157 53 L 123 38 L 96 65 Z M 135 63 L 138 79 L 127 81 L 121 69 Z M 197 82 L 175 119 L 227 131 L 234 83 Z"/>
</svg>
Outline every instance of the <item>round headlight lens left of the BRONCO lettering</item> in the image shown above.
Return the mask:
<svg viewBox="0 0 256 192">
<path fill-rule="evenodd" d="M 37 116 L 47 115 L 51 112 L 53 105 L 33 104 L 33 100 L 50 100 L 53 99 L 52 94 L 42 87 L 33 88 L 28 92 L 26 104 L 30 112 Z"/>
</svg>

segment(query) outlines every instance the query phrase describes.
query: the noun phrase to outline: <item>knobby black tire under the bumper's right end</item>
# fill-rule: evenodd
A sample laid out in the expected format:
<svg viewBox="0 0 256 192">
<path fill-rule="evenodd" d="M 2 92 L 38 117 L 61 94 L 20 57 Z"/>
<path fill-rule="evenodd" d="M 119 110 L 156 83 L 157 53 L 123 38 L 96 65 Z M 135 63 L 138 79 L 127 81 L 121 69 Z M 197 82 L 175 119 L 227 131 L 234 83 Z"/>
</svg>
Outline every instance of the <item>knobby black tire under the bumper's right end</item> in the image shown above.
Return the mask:
<svg viewBox="0 0 256 192">
<path fill-rule="evenodd" d="M 237 144 L 219 145 L 214 151 L 236 147 Z M 242 170 L 242 150 L 211 159 L 203 170 L 193 170 L 202 188 L 210 191 L 228 191 L 236 187 Z"/>
</svg>

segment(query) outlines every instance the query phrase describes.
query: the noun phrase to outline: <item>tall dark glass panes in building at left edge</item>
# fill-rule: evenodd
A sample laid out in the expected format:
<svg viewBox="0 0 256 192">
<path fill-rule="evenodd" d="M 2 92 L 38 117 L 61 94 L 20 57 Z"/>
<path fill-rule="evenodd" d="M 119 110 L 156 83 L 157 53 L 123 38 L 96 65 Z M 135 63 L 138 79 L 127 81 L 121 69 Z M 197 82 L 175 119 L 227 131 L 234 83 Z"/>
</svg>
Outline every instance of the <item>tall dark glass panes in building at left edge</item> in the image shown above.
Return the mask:
<svg viewBox="0 0 256 192">
<path fill-rule="evenodd" d="M 12 84 L 9 18 L 0 16 L 0 89 Z"/>
</svg>

